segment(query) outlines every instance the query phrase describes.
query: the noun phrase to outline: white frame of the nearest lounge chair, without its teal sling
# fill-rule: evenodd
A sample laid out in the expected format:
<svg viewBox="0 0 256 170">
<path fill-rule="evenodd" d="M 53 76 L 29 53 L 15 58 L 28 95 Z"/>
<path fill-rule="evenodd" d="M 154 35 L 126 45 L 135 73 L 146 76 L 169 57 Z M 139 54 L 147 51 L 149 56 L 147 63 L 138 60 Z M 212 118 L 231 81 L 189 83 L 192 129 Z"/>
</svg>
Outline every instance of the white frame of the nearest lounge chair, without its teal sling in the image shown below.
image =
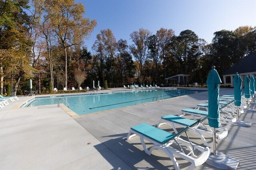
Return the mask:
<svg viewBox="0 0 256 170">
<path fill-rule="evenodd" d="M 172 134 L 172 133 L 170 133 L 170 134 Z M 191 142 L 183 140 L 182 138 L 179 137 L 179 134 L 177 134 L 172 140 L 169 140 L 168 142 L 162 144 L 162 143 L 157 142 L 156 140 L 148 138 L 147 136 L 145 136 L 144 134 L 142 134 L 140 132 L 130 129 L 130 131 L 127 135 L 127 140 L 129 140 L 130 138 L 132 138 L 136 135 L 140 136 L 140 142 L 141 142 L 146 154 L 151 155 L 151 153 L 154 149 L 162 150 L 170 157 L 176 170 L 180 170 L 180 167 L 179 167 L 179 164 L 178 164 L 175 156 L 183 158 L 191 163 L 190 166 L 187 168 L 187 170 L 194 170 L 194 168 L 196 166 L 203 164 L 208 159 L 208 156 L 210 154 L 210 149 L 208 147 L 203 148 L 202 146 L 198 146 L 196 144 L 192 144 Z M 144 140 L 148 140 L 149 142 L 152 142 L 154 145 L 150 149 L 148 149 Z M 176 149 L 170 147 L 170 145 L 173 144 L 174 142 L 176 142 L 176 144 L 178 144 L 179 146 L 180 146 L 180 144 L 185 145 L 191 151 L 188 154 L 185 154 L 184 152 L 181 152 L 179 150 L 176 150 Z M 197 149 L 202 153 L 199 156 L 196 156 L 193 152 L 194 149 Z M 192 156 L 189 156 L 190 154 L 192 154 Z"/>
</svg>

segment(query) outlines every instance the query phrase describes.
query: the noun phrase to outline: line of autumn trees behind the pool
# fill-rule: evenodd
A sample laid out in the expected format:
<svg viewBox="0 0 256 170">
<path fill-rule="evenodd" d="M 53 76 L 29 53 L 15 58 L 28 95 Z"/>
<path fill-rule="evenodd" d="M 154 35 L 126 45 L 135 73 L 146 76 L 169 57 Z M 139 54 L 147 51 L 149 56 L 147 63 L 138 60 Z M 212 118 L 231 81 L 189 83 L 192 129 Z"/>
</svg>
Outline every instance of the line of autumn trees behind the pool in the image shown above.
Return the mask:
<svg viewBox="0 0 256 170">
<path fill-rule="evenodd" d="M 214 32 L 209 44 L 192 30 L 175 35 L 160 28 L 155 34 L 140 28 L 130 33 L 132 44 L 100 30 L 92 49 L 86 39 L 97 25 L 85 18 L 75 0 L 0 0 L 0 89 L 108 87 L 132 83 L 160 84 L 165 78 L 188 74 L 189 82 L 205 83 L 212 65 L 222 75 L 242 57 L 256 53 L 256 27 Z"/>
</svg>

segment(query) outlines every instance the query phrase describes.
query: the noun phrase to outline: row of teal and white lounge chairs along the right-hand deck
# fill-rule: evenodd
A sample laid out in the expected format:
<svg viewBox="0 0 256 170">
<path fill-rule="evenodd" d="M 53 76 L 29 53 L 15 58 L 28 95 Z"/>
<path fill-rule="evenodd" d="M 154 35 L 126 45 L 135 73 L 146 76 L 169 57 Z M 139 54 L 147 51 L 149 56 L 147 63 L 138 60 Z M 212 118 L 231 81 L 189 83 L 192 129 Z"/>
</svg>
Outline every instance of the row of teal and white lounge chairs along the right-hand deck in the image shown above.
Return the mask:
<svg viewBox="0 0 256 170">
<path fill-rule="evenodd" d="M 217 141 L 225 138 L 228 135 L 228 130 L 226 128 L 236 122 L 236 109 L 234 109 L 233 106 L 234 96 L 232 96 L 232 94 L 223 95 L 220 97 L 220 100 L 221 99 L 220 128 L 215 128 Z M 242 103 L 243 102 L 244 101 L 242 101 Z M 243 103 L 239 108 L 240 114 L 243 113 L 243 108 L 245 107 L 246 105 Z M 184 115 L 190 117 L 190 119 L 187 119 L 187 117 L 184 118 Z M 207 118 L 208 103 L 206 101 L 206 103 L 198 104 L 194 109 L 182 109 L 178 116 L 170 114 L 161 117 L 156 127 L 145 123 L 131 127 L 127 135 L 127 140 L 138 135 L 146 154 L 150 155 L 154 149 L 160 149 L 170 157 L 175 169 L 180 169 L 177 159 L 175 158 L 176 156 L 190 162 L 188 169 L 194 169 L 196 166 L 203 164 L 208 159 L 210 154 L 209 147 L 212 147 L 213 145 L 212 140 L 209 141 L 209 138 L 212 138 L 213 132 L 210 126 L 204 123 Z M 160 127 L 162 125 L 170 126 L 174 133 L 161 129 Z M 190 141 L 187 131 L 196 134 L 196 136 L 202 140 L 205 147 L 198 146 Z M 186 140 L 184 137 L 180 138 L 182 133 L 186 134 Z M 154 145 L 148 149 L 146 146 L 148 143 L 146 143 L 145 140 L 153 143 Z M 173 147 L 175 144 L 176 146 Z M 177 147 L 177 144 L 179 147 Z M 199 152 L 194 152 L 195 149 Z"/>
</svg>

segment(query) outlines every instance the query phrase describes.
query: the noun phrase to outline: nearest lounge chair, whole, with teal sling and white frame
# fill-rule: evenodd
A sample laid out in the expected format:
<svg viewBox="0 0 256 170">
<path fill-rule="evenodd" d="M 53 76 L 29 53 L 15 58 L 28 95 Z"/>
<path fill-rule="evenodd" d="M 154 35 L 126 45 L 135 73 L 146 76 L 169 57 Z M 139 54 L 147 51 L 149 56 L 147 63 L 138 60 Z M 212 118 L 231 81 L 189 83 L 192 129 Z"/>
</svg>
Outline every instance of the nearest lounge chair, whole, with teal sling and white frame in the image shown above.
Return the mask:
<svg viewBox="0 0 256 170">
<path fill-rule="evenodd" d="M 180 134 L 182 132 L 185 132 L 186 130 L 187 128 L 184 128 L 178 134 L 172 134 L 160 128 L 156 128 L 143 123 L 135 127 L 131 127 L 127 135 L 127 140 L 129 140 L 133 136 L 138 135 L 140 136 L 140 141 L 146 154 L 150 155 L 154 149 L 160 149 L 170 157 L 170 159 L 174 164 L 174 168 L 176 170 L 180 169 L 180 167 L 175 156 L 178 156 L 190 162 L 191 164 L 188 167 L 188 169 L 192 170 L 196 166 L 203 164 L 208 159 L 208 156 L 210 154 L 210 149 L 208 147 L 203 148 L 202 146 L 192 144 L 191 142 L 188 142 L 180 138 Z M 149 150 L 146 147 L 145 140 L 152 142 L 154 144 Z M 173 143 L 178 144 L 181 148 L 181 151 L 171 147 L 170 145 Z M 190 149 L 188 154 L 184 153 L 185 149 L 184 147 L 182 148 L 181 145 L 182 146 L 185 145 L 186 148 Z M 200 155 L 198 156 L 195 155 L 194 153 L 195 149 L 200 151 Z"/>
</svg>

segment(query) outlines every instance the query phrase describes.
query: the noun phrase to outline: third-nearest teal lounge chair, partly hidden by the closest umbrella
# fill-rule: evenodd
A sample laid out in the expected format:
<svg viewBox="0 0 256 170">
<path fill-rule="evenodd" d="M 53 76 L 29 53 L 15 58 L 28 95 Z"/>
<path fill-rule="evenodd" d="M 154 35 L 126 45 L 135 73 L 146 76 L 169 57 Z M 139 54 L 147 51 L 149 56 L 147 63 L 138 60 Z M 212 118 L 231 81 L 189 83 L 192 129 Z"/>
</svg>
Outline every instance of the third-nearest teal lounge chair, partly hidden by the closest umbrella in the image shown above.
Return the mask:
<svg viewBox="0 0 256 170">
<path fill-rule="evenodd" d="M 190 108 L 183 109 L 179 116 L 183 116 L 186 114 L 191 115 L 195 121 L 197 121 L 196 117 L 201 117 L 201 118 L 208 117 L 208 111 L 201 111 L 201 110 L 190 109 Z M 230 125 L 232 125 L 232 123 L 233 123 L 232 119 L 220 118 L 220 128 L 221 129 L 225 129 L 225 128 L 229 127 Z"/>
</svg>

